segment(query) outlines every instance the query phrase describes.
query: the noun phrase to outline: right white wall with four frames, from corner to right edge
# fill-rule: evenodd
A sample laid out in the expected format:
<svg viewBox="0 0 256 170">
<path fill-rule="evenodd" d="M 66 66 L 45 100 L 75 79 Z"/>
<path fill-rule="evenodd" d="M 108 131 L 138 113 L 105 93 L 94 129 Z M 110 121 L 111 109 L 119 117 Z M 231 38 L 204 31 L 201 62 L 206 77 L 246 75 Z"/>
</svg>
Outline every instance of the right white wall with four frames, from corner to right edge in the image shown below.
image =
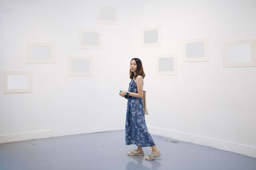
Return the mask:
<svg viewBox="0 0 256 170">
<path fill-rule="evenodd" d="M 145 68 L 153 134 L 256 157 L 256 67 L 223 67 L 223 42 L 256 38 L 256 1 L 132 1 L 131 55 Z M 135 5 L 134 5 L 135 6 Z M 141 48 L 161 26 L 162 46 Z M 182 41 L 209 38 L 209 62 L 182 62 Z M 179 55 L 177 76 L 156 76 L 156 55 Z"/>
</svg>

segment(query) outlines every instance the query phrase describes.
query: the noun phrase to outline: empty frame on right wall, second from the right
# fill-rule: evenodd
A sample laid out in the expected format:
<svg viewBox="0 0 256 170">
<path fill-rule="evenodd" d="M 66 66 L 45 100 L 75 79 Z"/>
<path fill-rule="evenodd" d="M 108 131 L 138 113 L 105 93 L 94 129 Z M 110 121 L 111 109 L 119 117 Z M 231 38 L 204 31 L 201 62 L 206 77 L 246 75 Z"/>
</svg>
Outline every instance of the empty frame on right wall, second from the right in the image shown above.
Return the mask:
<svg viewBox="0 0 256 170">
<path fill-rule="evenodd" d="M 184 41 L 184 62 L 208 61 L 208 38 Z"/>
</svg>

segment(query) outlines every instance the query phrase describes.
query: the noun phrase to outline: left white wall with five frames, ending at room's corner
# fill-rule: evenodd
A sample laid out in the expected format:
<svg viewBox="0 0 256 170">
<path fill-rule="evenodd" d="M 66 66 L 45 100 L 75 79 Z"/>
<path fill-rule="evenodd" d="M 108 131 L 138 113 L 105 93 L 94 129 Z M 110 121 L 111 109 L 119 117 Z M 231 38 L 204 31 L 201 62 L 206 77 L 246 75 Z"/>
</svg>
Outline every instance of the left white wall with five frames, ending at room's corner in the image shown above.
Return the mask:
<svg viewBox="0 0 256 170">
<path fill-rule="evenodd" d="M 97 4 L 117 6 L 119 25 L 97 24 Z M 129 84 L 127 5 L 1 1 L 0 141 L 22 132 L 61 136 L 124 129 L 127 100 L 118 93 Z M 103 50 L 80 50 L 79 29 L 102 31 Z M 55 42 L 56 63 L 27 64 L 26 41 Z M 68 56 L 93 57 L 93 76 L 68 76 Z M 33 93 L 3 94 L 2 72 L 23 70 L 33 71 Z"/>
</svg>

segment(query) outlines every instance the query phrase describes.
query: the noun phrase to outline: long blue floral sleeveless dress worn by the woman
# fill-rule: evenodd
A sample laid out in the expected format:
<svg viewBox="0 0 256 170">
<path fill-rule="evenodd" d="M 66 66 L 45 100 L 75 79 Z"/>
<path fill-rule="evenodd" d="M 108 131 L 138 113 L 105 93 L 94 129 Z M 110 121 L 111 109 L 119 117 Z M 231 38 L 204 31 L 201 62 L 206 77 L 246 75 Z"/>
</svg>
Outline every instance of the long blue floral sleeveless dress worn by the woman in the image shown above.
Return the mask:
<svg viewBox="0 0 256 170">
<path fill-rule="evenodd" d="M 129 92 L 138 93 L 136 78 L 129 84 Z M 152 136 L 148 132 L 141 98 L 131 97 L 127 101 L 125 120 L 125 144 L 137 146 L 154 146 Z"/>
</svg>

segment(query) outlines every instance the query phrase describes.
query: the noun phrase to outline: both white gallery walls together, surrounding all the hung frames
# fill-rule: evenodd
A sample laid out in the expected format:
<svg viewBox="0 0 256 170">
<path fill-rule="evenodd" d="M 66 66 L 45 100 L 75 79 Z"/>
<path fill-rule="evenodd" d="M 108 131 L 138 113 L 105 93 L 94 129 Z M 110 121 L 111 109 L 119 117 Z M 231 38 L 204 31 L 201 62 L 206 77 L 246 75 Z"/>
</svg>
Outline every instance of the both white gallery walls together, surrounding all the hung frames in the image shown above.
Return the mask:
<svg viewBox="0 0 256 170">
<path fill-rule="evenodd" d="M 118 6 L 120 24 L 97 24 L 97 3 Z M 139 57 L 150 132 L 256 157 L 256 67 L 222 67 L 224 41 L 256 38 L 255 11 L 231 0 L 1 1 L 0 71 L 34 72 L 33 93 L 0 94 L 2 143 L 124 129 L 118 90 Z M 141 48 L 141 29 L 154 26 L 162 46 Z M 79 50 L 80 28 L 103 31 L 103 50 Z M 182 41 L 204 37 L 209 62 L 182 62 Z M 54 41 L 56 64 L 27 64 L 26 41 Z M 177 76 L 156 76 L 162 53 L 179 55 Z M 68 56 L 93 57 L 93 76 L 67 76 Z"/>
</svg>

